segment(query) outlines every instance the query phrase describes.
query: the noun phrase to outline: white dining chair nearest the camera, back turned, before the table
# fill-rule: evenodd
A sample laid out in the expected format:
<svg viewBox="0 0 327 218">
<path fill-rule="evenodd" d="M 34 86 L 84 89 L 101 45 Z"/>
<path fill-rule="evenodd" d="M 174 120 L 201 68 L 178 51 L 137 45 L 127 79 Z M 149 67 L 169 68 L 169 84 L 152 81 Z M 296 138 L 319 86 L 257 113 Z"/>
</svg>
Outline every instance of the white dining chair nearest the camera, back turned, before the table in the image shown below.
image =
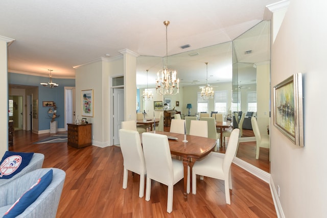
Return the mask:
<svg viewBox="0 0 327 218">
<path fill-rule="evenodd" d="M 151 180 L 168 186 L 167 212 L 173 210 L 174 185 L 184 178 L 184 166 L 171 158 L 167 135 L 143 133 L 143 152 L 147 168 L 146 201 L 150 201 Z M 190 168 L 188 167 L 187 193 L 190 193 Z"/>
</svg>

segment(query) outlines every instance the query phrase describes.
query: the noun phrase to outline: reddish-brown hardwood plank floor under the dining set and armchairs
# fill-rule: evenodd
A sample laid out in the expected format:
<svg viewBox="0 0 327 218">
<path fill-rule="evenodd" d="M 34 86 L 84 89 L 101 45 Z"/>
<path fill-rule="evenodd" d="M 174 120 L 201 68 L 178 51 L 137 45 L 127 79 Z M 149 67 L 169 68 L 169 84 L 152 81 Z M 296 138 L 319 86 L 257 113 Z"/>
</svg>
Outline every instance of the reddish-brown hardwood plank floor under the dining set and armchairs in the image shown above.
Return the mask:
<svg viewBox="0 0 327 218">
<path fill-rule="evenodd" d="M 167 213 L 167 186 L 152 182 L 151 199 L 138 198 L 139 176 L 128 173 L 123 184 L 119 147 L 81 149 L 62 143 L 33 144 L 50 134 L 15 131 L 10 151 L 43 153 L 43 167 L 66 172 L 57 217 L 277 217 L 269 184 L 232 164 L 231 204 L 224 182 L 197 178 L 197 193 L 183 198 L 183 181 L 174 186 L 173 211 Z"/>
</svg>

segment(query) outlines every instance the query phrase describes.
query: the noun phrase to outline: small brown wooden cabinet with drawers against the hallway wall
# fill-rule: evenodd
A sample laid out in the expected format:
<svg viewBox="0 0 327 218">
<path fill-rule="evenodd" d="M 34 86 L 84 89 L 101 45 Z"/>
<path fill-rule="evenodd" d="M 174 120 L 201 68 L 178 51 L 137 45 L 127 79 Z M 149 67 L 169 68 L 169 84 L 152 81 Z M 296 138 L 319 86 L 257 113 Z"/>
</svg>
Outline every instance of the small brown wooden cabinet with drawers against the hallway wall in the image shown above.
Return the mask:
<svg viewBox="0 0 327 218">
<path fill-rule="evenodd" d="M 67 144 L 75 148 L 92 145 L 92 124 L 67 124 Z"/>
</svg>

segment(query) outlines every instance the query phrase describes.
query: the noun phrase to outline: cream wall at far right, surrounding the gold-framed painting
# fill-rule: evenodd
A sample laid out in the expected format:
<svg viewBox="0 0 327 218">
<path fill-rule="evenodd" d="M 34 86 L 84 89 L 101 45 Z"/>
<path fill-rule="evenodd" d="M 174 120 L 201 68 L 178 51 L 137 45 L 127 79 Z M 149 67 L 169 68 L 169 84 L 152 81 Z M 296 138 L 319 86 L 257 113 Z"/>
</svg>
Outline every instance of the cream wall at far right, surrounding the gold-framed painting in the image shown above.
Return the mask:
<svg viewBox="0 0 327 218">
<path fill-rule="evenodd" d="M 270 131 L 271 179 L 275 189 L 280 187 L 278 200 L 285 217 L 327 214 L 325 6 L 322 0 L 291 1 L 272 45 L 271 87 L 297 72 L 303 74 L 305 147 L 295 146 L 273 125 Z"/>
</svg>

